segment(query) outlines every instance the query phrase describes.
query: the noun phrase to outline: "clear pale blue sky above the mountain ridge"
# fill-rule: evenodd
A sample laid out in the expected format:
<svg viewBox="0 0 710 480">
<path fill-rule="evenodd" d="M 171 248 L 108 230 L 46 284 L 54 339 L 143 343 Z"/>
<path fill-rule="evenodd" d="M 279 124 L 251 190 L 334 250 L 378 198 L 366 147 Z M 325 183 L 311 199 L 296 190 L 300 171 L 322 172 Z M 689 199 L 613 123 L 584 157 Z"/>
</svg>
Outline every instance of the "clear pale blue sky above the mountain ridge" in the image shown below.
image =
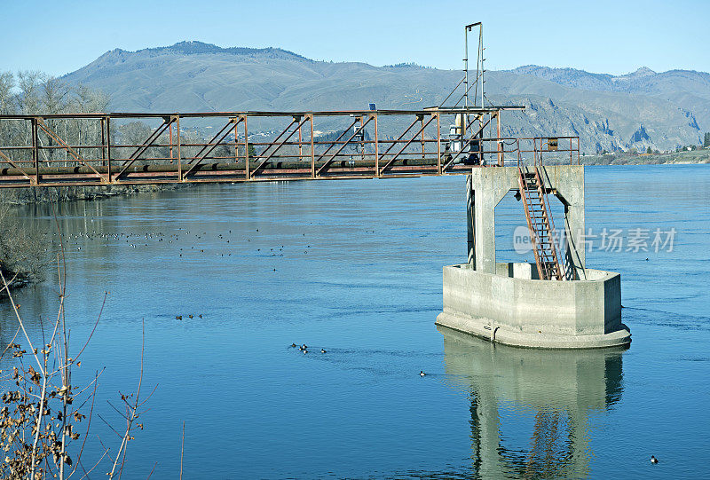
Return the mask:
<svg viewBox="0 0 710 480">
<path fill-rule="evenodd" d="M 377 66 L 414 61 L 461 68 L 462 27 L 483 21 L 490 69 L 538 64 L 617 75 L 643 66 L 708 72 L 708 7 L 708 0 L 5 0 L 0 71 L 62 75 L 114 48 L 182 40 L 275 46 L 312 59 Z"/>
</svg>

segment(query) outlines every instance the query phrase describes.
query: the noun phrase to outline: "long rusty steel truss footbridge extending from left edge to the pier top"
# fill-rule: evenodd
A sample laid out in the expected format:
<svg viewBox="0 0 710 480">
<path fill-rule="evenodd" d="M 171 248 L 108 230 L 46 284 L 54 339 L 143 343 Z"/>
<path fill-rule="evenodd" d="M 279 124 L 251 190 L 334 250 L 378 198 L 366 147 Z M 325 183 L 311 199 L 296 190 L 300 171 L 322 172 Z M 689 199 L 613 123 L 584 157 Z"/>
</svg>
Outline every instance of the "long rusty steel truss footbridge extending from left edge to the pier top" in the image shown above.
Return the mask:
<svg viewBox="0 0 710 480">
<path fill-rule="evenodd" d="M 554 138 L 554 144 L 553 138 L 502 138 L 501 112 L 522 108 L 0 115 L 0 187 L 461 175 L 472 165 L 502 166 L 543 151 L 579 163 L 579 137 Z M 286 127 L 250 134 L 255 119 Z M 112 135 L 117 124 L 137 120 L 160 124 L 141 143 Z M 185 143 L 180 122 L 187 120 L 223 123 L 209 140 Z M 349 126 L 318 135 L 316 126 L 334 120 Z M 80 128 L 70 145 L 72 122 L 97 134 L 82 138 Z M 8 138 L 7 131 L 16 133 Z"/>
</svg>

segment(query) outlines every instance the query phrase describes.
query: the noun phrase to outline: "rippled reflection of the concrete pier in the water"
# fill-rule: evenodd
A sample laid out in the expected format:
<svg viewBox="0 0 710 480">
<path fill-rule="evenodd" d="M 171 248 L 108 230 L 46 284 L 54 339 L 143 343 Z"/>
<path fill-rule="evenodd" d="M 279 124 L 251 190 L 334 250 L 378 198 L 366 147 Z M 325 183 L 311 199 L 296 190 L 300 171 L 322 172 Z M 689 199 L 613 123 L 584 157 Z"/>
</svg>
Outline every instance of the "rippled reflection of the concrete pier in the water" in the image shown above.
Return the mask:
<svg viewBox="0 0 710 480">
<path fill-rule="evenodd" d="M 619 401 L 625 349 L 531 350 L 496 345 L 446 327 L 445 368 L 469 392 L 471 460 L 482 477 L 585 478 L 592 452 L 588 415 Z M 524 439 L 505 418 L 533 413 Z M 501 421 L 502 420 L 502 421 Z M 507 434 L 510 433 L 510 436 Z M 520 443 L 520 445 L 516 445 Z"/>
</svg>

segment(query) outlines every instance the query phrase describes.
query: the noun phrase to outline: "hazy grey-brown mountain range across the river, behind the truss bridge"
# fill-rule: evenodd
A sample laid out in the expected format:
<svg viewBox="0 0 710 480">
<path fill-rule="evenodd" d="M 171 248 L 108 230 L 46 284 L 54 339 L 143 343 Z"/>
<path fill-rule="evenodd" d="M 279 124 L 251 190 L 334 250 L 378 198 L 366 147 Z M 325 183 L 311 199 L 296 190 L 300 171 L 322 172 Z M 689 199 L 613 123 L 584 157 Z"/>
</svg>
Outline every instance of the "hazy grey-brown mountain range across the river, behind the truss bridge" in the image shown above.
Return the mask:
<svg viewBox="0 0 710 480">
<path fill-rule="evenodd" d="M 374 67 L 279 48 L 181 42 L 107 51 L 63 79 L 106 91 L 112 111 L 211 112 L 353 110 L 371 102 L 422 109 L 439 105 L 461 77 L 414 64 Z M 486 71 L 485 94 L 493 105 L 526 107 L 503 114 L 504 135 L 579 135 L 587 153 L 673 150 L 698 145 L 710 130 L 710 74 L 703 72 L 643 67 L 614 76 L 530 65 Z"/>
</svg>

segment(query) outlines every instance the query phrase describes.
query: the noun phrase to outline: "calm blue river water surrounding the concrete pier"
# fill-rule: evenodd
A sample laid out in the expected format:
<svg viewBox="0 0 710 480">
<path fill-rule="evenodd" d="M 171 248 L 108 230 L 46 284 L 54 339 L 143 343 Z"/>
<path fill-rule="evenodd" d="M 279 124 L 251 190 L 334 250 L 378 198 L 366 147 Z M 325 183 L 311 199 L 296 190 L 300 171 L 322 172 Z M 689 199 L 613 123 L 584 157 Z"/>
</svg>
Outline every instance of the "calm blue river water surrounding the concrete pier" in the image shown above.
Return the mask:
<svg viewBox="0 0 710 480">
<path fill-rule="evenodd" d="M 61 205 L 75 351 L 110 292 L 74 382 L 106 367 L 95 408 L 120 426 L 106 401 L 136 389 L 145 325 L 143 389 L 157 389 L 130 478 L 156 462 L 151 478 L 177 477 L 183 421 L 185 478 L 707 477 L 710 169 L 594 167 L 586 185 L 595 232 L 676 230 L 672 251 L 587 254 L 621 273 L 628 350 L 511 349 L 434 326 L 441 267 L 466 256 L 463 177 Z M 56 250 L 49 208 L 18 215 Z M 510 238 L 522 206 L 508 198 L 496 216 L 499 259 L 522 259 Z M 17 295 L 36 338 L 56 281 Z M 7 342 L 6 303 L 0 322 Z M 118 447 L 95 417 L 87 469 L 97 437 Z"/>
</svg>

